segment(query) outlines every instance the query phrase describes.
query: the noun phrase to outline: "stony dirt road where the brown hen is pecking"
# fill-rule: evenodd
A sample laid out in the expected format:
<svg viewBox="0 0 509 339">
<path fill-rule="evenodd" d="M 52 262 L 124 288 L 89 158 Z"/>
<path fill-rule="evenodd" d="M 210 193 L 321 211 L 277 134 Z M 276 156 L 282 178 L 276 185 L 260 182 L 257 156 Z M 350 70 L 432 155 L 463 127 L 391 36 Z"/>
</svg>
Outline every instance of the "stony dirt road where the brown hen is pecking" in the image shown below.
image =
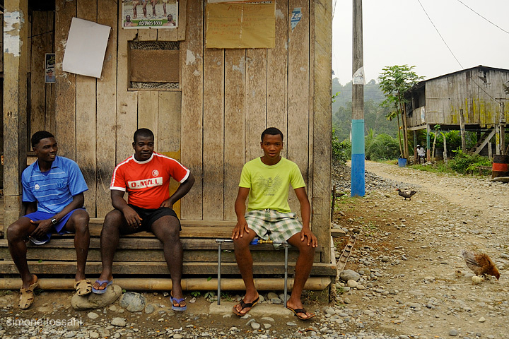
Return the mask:
<svg viewBox="0 0 509 339">
<path fill-rule="evenodd" d="M 361 231 L 346 268 L 368 288 L 340 297 L 357 324 L 401 338 L 509 338 L 509 186 L 377 162 L 365 169 L 365 198 L 343 198 L 335 220 Z M 418 192 L 404 201 L 397 187 Z M 473 285 L 462 249 L 490 255 L 501 279 Z"/>
</svg>

